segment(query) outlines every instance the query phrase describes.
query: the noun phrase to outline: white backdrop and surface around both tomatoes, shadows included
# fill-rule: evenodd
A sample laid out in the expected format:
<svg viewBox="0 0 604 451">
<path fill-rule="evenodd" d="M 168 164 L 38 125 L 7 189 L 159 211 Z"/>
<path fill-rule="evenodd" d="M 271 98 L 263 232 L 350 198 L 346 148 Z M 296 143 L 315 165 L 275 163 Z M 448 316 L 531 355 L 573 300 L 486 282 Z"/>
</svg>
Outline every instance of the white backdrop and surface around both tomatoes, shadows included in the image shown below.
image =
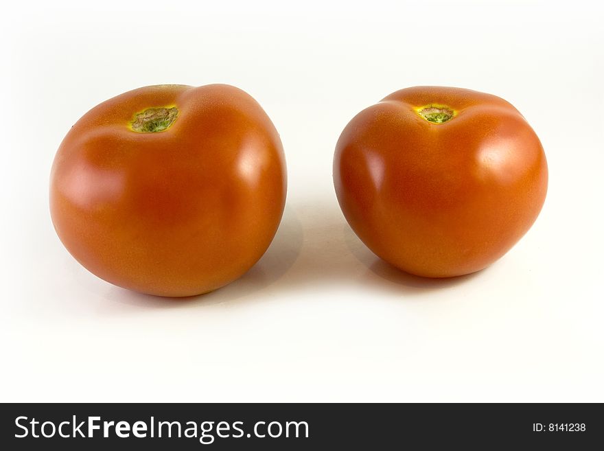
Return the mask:
<svg viewBox="0 0 604 451">
<path fill-rule="evenodd" d="M 12 2 L 0 34 L 1 401 L 604 401 L 599 2 Z M 49 218 L 54 153 L 148 84 L 234 84 L 281 134 L 281 228 L 192 300 L 88 273 Z M 407 86 L 504 97 L 542 139 L 544 209 L 499 262 L 405 275 L 353 234 L 335 143 Z"/>
</svg>

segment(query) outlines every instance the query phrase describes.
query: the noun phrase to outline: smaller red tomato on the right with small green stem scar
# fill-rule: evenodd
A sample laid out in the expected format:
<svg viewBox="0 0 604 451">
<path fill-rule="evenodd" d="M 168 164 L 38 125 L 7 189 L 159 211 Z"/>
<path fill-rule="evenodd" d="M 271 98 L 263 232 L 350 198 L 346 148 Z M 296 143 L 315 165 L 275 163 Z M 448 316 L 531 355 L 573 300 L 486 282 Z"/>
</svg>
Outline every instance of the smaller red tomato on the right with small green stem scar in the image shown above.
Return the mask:
<svg viewBox="0 0 604 451">
<path fill-rule="evenodd" d="M 361 111 L 336 146 L 342 212 L 379 257 L 452 277 L 504 255 L 545 200 L 546 157 L 524 117 L 468 89 L 402 89 Z"/>
</svg>

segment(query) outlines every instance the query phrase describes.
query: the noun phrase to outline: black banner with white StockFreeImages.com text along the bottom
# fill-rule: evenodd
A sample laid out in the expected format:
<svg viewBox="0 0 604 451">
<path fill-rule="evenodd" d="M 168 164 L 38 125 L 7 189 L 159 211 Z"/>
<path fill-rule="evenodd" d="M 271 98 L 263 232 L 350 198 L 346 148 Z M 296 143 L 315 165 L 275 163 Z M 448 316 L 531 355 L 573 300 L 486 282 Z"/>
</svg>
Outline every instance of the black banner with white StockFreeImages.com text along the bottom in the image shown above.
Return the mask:
<svg viewBox="0 0 604 451">
<path fill-rule="evenodd" d="M 601 404 L 2 404 L 0 421 L 3 450 L 584 450 L 604 443 Z"/>
</svg>

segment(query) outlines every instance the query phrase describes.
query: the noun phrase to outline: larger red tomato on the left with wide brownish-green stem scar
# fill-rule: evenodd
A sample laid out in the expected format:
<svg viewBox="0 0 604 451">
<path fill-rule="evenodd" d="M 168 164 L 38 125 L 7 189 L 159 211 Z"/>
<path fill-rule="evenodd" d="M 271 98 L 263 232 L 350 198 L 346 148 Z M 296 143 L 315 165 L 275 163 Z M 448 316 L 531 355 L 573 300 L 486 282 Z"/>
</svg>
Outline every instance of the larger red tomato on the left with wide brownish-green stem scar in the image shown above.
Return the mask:
<svg viewBox="0 0 604 451">
<path fill-rule="evenodd" d="M 51 217 L 71 255 L 112 284 L 168 297 L 243 275 L 285 199 L 275 126 L 224 84 L 113 97 L 69 130 L 51 170 Z"/>
</svg>

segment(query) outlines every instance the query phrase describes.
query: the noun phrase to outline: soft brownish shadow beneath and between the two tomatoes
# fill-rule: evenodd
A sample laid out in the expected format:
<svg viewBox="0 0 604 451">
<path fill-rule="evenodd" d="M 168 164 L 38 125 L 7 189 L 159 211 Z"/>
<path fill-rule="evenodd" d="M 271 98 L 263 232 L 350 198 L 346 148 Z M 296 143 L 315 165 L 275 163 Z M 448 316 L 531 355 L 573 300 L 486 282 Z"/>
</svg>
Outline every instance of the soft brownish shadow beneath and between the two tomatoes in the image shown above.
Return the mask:
<svg viewBox="0 0 604 451">
<path fill-rule="evenodd" d="M 363 286 L 401 297 L 463 284 L 478 273 L 430 279 L 404 273 L 384 262 L 349 227 L 334 196 L 297 199 L 288 204 L 275 239 L 261 259 L 240 279 L 216 291 L 185 298 L 163 298 L 111 288 L 106 297 L 143 308 L 197 308 L 279 299 L 321 286 Z M 316 297 L 315 297 L 316 298 Z M 320 298 L 320 297 L 319 297 Z"/>
</svg>

